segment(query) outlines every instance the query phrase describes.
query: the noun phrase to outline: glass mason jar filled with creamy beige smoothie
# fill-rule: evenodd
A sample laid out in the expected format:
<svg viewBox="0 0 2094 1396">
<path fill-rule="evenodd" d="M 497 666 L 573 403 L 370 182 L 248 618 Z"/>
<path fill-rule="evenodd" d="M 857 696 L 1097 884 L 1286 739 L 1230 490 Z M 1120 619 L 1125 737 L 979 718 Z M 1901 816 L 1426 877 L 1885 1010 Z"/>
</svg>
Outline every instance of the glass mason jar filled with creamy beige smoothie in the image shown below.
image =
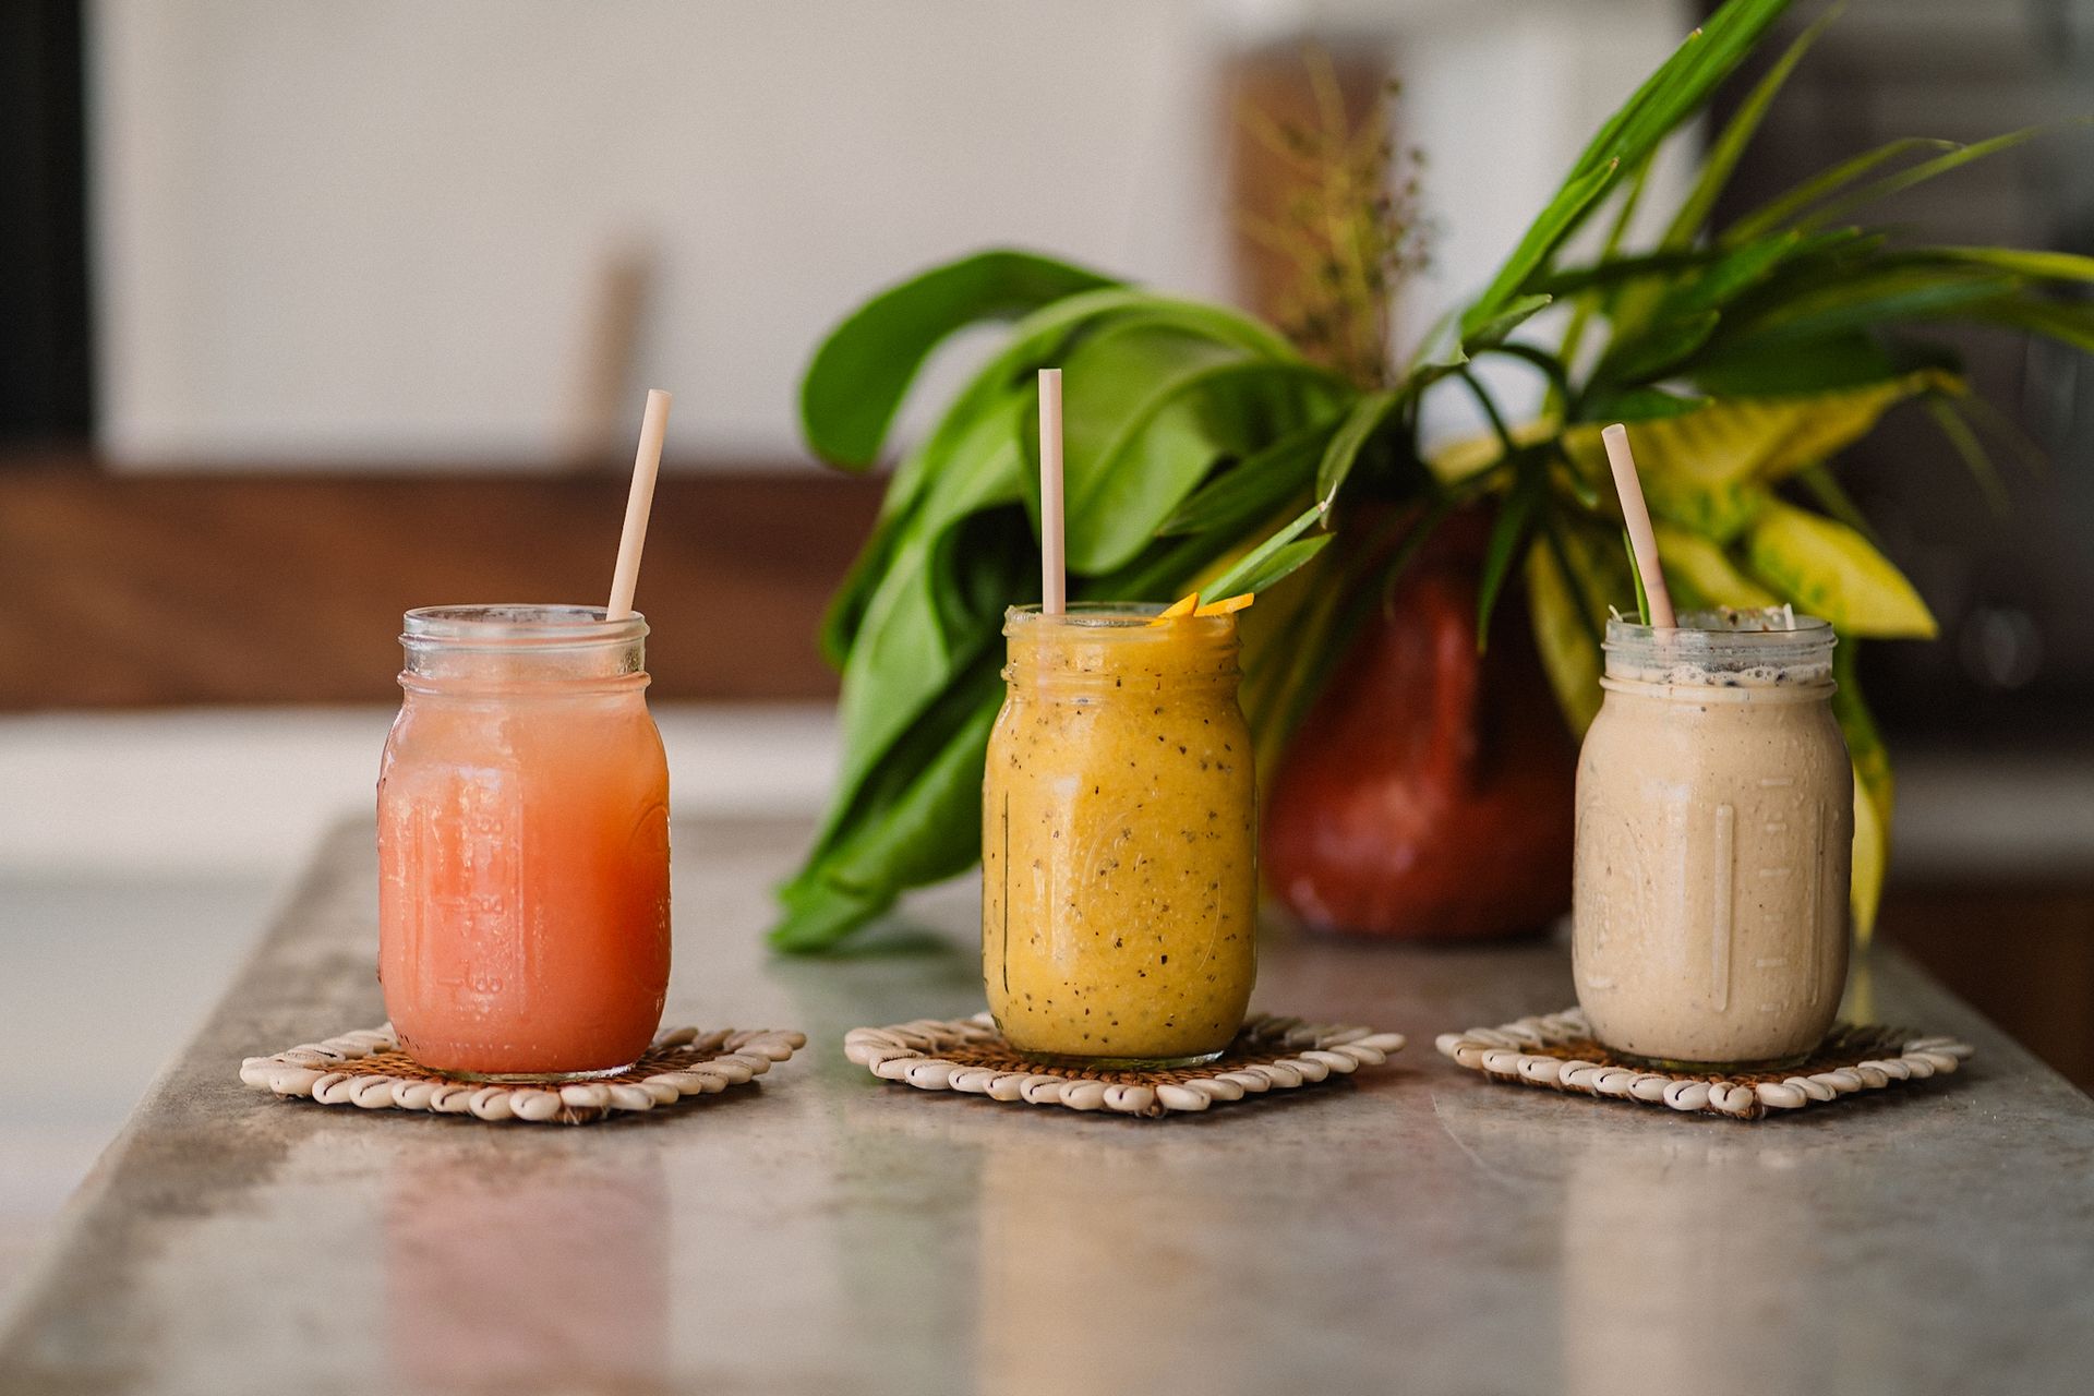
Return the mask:
<svg viewBox="0 0 2094 1396">
<path fill-rule="evenodd" d="M 1853 768 L 1832 626 L 1786 609 L 1679 624 L 1606 628 L 1577 770 L 1579 1005 L 1629 1057 L 1792 1063 L 1847 982 Z"/>
</svg>

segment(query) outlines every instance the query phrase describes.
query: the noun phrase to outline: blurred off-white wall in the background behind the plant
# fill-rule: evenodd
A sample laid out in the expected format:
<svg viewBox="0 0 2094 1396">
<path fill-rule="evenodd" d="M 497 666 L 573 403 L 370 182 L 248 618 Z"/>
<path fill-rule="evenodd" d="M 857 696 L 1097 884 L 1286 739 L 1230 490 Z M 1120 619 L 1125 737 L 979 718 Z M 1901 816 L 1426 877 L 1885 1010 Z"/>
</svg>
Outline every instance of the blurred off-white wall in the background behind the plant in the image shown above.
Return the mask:
<svg viewBox="0 0 2094 1396">
<path fill-rule="evenodd" d="M 1026 243 L 1227 289 L 1231 44 L 1390 44 L 1478 283 L 1681 29 L 1671 0 L 94 0 L 103 446 L 126 463 L 547 460 L 603 425 L 605 266 L 672 456 L 789 456 L 819 335 Z M 632 410 L 632 408 L 626 408 Z M 611 433 L 626 437 L 618 421 Z"/>
</svg>

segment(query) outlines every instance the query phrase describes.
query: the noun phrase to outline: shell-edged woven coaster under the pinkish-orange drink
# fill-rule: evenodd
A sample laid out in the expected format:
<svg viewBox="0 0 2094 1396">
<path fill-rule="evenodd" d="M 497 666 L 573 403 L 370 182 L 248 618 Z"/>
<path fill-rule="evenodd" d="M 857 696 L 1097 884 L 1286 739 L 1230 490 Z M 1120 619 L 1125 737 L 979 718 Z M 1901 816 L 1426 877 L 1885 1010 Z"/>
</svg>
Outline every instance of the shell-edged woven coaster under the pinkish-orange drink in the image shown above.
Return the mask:
<svg viewBox="0 0 2094 1396">
<path fill-rule="evenodd" d="M 241 1063 L 241 1080 L 255 1090 L 302 1095 L 320 1105 L 591 1124 L 620 1111 L 655 1109 L 745 1086 L 802 1046 L 804 1032 L 674 1028 L 655 1036 L 641 1059 L 618 1076 L 563 1086 L 490 1084 L 431 1072 L 400 1051 L 400 1038 L 387 1023 L 291 1046 L 274 1057 L 249 1057 Z"/>
</svg>

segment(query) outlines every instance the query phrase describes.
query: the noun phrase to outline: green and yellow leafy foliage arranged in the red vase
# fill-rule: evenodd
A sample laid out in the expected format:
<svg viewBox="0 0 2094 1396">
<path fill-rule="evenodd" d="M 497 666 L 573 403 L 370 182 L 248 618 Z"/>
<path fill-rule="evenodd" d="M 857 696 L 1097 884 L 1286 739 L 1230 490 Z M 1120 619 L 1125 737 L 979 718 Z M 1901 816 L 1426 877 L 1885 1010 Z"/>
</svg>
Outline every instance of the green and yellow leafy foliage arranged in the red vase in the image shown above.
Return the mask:
<svg viewBox="0 0 2094 1396">
<path fill-rule="evenodd" d="M 2094 350 L 2094 312 L 2050 295 L 2056 283 L 2094 280 L 2094 260 L 1920 247 L 1853 222 L 1889 193 L 2035 132 L 1968 147 L 1897 140 L 1713 226 L 1732 167 L 1824 21 L 1717 132 L 1665 232 L 1627 245 L 1658 144 L 1786 8 L 1721 6 L 1608 117 L 1491 285 L 1401 364 L 1332 350 L 1357 347 L 1357 335 L 1296 327 L 1290 337 L 1022 251 L 934 268 L 848 316 L 808 366 L 802 423 L 812 450 L 850 471 L 879 463 L 903 396 L 942 339 L 984 320 L 1011 331 L 900 458 L 823 624 L 823 649 L 844 676 L 844 762 L 804 866 L 779 890 L 773 942 L 829 946 L 980 852 L 1001 615 L 1039 584 L 1041 366 L 1068 375 L 1072 596 L 1223 594 L 1302 571 L 1261 599 L 1246 634 L 1246 705 L 1279 772 L 1275 797 L 1288 793 L 1290 745 L 1328 741 L 1309 714 L 1346 682 L 1369 624 L 1405 615 L 1388 605 L 1393 588 L 1432 561 L 1434 540 L 1447 565 L 1449 521 L 1468 530 L 1451 565 L 1474 599 L 1474 645 L 1485 649 L 1493 613 L 1518 596 L 1564 745 L 1583 730 L 1598 703 L 1600 626 L 1610 605 L 1633 605 L 1598 433 L 1633 423 L 1673 592 L 1690 605 L 1786 601 L 1841 634 L 1839 718 L 1857 774 L 1853 902 L 1866 931 L 1891 772 L 1853 682 L 1855 640 L 1931 636 L 1933 617 L 1872 542 L 1832 460 L 1901 402 L 1933 412 L 1958 450 L 1981 450 L 1956 360 L 1924 331 L 1989 324 Z M 1566 255 L 1585 226 L 1600 230 L 1598 251 Z M 1355 257 L 1357 274 L 1382 278 L 1386 295 L 1393 260 L 1401 264 L 1401 243 L 1384 237 L 1374 255 Z M 1535 316 L 1550 306 L 1568 306 L 1568 322 L 1541 339 Z M 1510 421 L 1476 375 L 1485 358 L 1539 375 L 1541 412 Z M 1441 391 L 1472 396 L 1489 435 L 1426 452 L 1420 404 Z M 1445 611 L 1447 599 L 1436 605 Z M 1501 622 L 1487 655 L 1512 649 Z M 1472 678 L 1470 707 L 1495 682 L 1485 670 Z M 1462 695 L 1445 701 L 1460 716 Z M 1424 722 L 1418 712 L 1382 720 Z M 1296 816 L 1269 810 L 1271 825 Z M 1566 833 L 1568 808 L 1556 818 Z M 1267 852 L 1277 852 L 1271 841 Z M 1518 883 L 1520 873 L 1485 881 Z"/>
</svg>

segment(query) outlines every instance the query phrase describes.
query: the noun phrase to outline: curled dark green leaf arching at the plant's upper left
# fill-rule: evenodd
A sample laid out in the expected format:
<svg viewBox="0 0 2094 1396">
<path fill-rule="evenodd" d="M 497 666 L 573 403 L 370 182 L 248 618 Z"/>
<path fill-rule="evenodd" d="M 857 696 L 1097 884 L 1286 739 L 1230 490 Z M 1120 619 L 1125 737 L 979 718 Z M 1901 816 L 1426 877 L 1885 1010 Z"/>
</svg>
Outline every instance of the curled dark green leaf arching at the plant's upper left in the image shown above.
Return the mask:
<svg viewBox="0 0 2094 1396">
<path fill-rule="evenodd" d="M 808 448 L 840 469 L 879 458 L 930 352 L 982 320 L 1009 320 L 1112 276 L 1026 251 L 984 251 L 890 287 L 829 331 L 800 381 Z"/>
</svg>

